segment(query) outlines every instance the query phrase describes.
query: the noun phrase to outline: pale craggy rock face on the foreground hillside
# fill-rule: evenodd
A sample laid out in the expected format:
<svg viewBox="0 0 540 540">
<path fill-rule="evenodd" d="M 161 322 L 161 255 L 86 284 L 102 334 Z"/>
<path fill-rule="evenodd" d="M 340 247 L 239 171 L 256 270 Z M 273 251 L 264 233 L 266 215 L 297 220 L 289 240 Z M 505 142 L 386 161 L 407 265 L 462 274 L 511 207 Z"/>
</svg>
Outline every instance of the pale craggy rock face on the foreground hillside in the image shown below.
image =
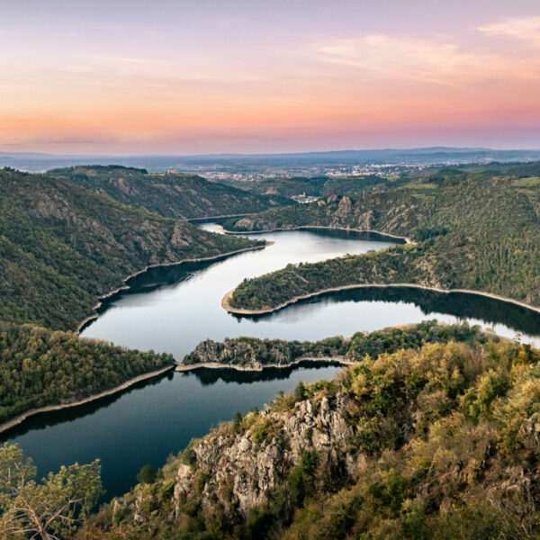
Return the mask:
<svg viewBox="0 0 540 540">
<path fill-rule="evenodd" d="M 203 439 L 193 447 L 192 466 L 182 464 L 178 469 L 177 517 L 197 489 L 202 490 L 203 508 L 219 502 L 247 515 L 286 481 L 305 452 L 317 454 L 325 478 L 353 475 L 362 459 L 347 455 L 347 441 L 353 435 L 342 414 L 347 404 L 348 398 L 340 393 L 318 403 L 300 401 L 290 411 L 258 413 L 244 432 Z"/>
</svg>

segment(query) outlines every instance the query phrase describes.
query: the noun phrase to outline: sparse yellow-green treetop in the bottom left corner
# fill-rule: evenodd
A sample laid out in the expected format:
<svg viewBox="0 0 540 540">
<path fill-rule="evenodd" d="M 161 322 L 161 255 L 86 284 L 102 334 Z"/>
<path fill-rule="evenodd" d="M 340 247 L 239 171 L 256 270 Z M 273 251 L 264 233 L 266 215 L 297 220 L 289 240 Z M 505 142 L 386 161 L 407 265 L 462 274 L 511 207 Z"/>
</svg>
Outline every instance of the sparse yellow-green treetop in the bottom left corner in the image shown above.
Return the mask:
<svg viewBox="0 0 540 540">
<path fill-rule="evenodd" d="M 57 540 L 73 533 L 103 493 L 99 460 L 62 465 L 36 482 L 36 467 L 17 445 L 0 446 L 0 537 Z"/>
</svg>

